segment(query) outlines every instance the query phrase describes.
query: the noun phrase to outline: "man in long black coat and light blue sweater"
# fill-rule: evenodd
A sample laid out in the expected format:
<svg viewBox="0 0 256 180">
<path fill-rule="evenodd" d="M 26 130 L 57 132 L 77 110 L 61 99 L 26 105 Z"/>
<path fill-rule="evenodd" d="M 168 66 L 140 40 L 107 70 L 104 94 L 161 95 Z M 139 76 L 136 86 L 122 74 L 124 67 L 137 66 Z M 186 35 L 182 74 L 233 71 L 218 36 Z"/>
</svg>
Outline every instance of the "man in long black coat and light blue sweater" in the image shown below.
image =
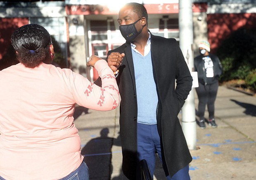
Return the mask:
<svg viewBox="0 0 256 180">
<path fill-rule="evenodd" d="M 192 77 L 176 40 L 152 35 L 147 20 L 141 4 L 121 8 L 118 23 L 126 43 L 107 56 L 121 95 L 123 173 L 140 180 L 140 161 L 145 159 L 153 178 L 157 152 L 167 179 L 189 180 L 192 157 L 177 116 Z"/>
</svg>

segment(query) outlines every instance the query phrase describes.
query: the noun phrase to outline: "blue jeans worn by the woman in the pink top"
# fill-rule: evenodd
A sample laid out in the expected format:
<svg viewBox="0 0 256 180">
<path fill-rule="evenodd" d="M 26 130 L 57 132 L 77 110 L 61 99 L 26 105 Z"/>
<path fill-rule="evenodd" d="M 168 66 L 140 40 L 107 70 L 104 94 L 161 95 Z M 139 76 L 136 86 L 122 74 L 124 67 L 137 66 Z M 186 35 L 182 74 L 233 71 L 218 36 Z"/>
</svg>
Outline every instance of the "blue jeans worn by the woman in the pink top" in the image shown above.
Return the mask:
<svg viewBox="0 0 256 180">
<path fill-rule="evenodd" d="M 5 179 L 0 176 L 0 180 Z M 85 162 L 82 162 L 75 171 L 60 180 L 89 180 L 89 169 Z"/>
</svg>

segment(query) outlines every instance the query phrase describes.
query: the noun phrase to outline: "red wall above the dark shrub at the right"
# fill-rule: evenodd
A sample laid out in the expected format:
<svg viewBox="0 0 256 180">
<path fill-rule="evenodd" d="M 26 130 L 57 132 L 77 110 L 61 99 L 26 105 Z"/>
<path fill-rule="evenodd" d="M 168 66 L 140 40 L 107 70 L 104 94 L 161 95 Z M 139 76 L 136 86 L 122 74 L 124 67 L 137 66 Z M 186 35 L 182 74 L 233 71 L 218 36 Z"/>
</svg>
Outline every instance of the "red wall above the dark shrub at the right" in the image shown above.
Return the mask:
<svg viewBox="0 0 256 180">
<path fill-rule="evenodd" d="M 208 39 L 214 53 L 232 32 L 240 28 L 256 30 L 256 14 L 208 14 L 207 24 Z"/>
</svg>

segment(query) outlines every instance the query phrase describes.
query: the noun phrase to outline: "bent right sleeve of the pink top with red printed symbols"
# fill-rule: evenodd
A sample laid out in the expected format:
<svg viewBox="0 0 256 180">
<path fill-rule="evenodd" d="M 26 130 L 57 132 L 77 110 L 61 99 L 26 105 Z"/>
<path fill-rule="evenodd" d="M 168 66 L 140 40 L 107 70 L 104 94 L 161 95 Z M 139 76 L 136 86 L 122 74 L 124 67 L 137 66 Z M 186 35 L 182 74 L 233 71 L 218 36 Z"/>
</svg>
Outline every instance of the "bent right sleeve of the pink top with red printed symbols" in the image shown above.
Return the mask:
<svg viewBox="0 0 256 180">
<path fill-rule="evenodd" d="M 74 100 L 76 104 L 86 108 L 98 111 L 112 110 L 119 105 L 119 89 L 114 73 L 105 60 L 98 60 L 94 67 L 102 79 L 102 87 L 72 72 L 70 81 Z"/>
</svg>

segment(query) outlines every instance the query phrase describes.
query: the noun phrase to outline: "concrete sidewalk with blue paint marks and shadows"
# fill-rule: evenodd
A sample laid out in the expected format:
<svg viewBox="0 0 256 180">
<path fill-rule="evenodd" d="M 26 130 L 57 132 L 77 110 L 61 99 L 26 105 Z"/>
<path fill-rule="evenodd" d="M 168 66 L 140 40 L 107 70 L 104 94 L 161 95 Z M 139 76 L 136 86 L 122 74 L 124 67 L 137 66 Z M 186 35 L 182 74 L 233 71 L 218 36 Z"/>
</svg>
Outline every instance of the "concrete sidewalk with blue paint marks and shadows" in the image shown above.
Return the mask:
<svg viewBox="0 0 256 180">
<path fill-rule="evenodd" d="M 195 96 L 196 108 L 197 104 Z M 197 126 L 198 150 L 190 151 L 191 179 L 255 180 L 256 97 L 220 86 L 215 106 L 218 127 L 206 125 L 206 129 L 200 129 Z M 90 179 L 127 180 L 121 171 L 119 108 L 100 112 L 78 107 L 74 117 Z M 154 180 L 165 179 L 157 161 Z"/>
</svg>

